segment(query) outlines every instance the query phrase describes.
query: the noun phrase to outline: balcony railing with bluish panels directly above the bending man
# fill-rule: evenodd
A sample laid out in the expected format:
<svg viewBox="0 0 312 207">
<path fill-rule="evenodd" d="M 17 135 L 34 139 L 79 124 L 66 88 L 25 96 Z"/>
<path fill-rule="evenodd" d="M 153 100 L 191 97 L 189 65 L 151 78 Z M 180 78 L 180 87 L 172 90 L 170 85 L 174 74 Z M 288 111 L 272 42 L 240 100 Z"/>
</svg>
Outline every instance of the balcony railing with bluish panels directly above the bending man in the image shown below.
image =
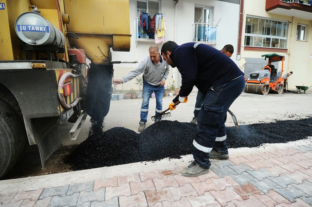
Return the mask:
<svg viewBox="0 0 312 207">
<path fill-rule="evenodd" d="M 193 42 L 202 42 L 209 45 L 217 44 L 217 26 L 216 24 L 194 23 Z"/>
</svg>

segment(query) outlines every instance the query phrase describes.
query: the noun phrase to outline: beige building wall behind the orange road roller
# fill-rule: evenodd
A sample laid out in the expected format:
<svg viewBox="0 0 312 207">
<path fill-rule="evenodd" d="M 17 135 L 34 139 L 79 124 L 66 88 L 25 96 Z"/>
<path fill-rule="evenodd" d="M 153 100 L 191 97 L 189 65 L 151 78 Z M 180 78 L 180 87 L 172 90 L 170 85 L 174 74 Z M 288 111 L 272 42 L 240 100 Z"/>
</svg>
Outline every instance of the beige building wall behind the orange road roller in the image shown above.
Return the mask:
<svg viewBox="0 0 312 207">
<path fill-rule="evenodd" d="M 243 19 L 243 30 L 242 30 L 242 51 L 240 68 L 244 70 L 245 58 L 261 58 L 263 54 L 277 53 L 285 56 L 284 61 L 284 72 L 293 71 L 294 74 L 288 80 L 288 88 L 296 89 L 296 85 L 312 85 L 312 21 L 299 19 L 296 17 L 287 16 L 287 10 L 285 15 L 274 14 L 266 12 L 265 0 L 245 0 L 244 1 L 244 19 Z M 245 39 L 245 22 L 246 15 L 254 15 L 259 17 L 268 17 L 272 19 L 284 20 L 291 22 L 288 28 L 288 40 L 287 40 L 287 52 L 270 51 L 248 51 L 244 50 L 244 39 Z M 312 15 L 312 14 L 311 14 Z M 306 41 L 296 40 L 297 24 L 307 25 Z M 281 62 L 279 68 L 282 67 Z"/>
</svg>

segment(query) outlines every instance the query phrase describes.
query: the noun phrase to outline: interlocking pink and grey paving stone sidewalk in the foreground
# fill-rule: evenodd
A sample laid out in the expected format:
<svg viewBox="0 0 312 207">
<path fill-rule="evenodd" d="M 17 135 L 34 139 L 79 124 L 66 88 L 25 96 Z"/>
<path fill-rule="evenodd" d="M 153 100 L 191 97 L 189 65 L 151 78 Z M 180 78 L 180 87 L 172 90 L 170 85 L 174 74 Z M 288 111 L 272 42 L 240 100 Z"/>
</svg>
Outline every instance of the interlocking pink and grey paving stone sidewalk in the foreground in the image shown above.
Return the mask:
<svg viewBox="0 0 312 207">
<path fill-rule="evenodd" d="M 0 192 L 0 207 L 305 207 L 312 206 L 311 163 L 312 145 L 304 145 L 212 160 L 208 174 L 193 178 L 181 176 L 185 166 L 175 166 L 53 188 L 7 189 Z"/>
</svg>

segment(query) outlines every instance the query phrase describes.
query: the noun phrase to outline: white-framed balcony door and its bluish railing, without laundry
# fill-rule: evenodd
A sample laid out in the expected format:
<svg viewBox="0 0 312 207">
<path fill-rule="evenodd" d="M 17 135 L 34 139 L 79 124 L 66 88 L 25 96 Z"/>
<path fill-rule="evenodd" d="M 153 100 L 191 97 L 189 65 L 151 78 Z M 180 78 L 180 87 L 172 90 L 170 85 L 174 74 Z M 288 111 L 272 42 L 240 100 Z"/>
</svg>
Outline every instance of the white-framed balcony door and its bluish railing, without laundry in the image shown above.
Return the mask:
<svg viewBox="0 0 312 207">
<path fill-rule="evenodd" d="M 216 42 L 217 25 L 213 24 L 212 7 L 195 6 L 193 41 Z"/>
</svg>

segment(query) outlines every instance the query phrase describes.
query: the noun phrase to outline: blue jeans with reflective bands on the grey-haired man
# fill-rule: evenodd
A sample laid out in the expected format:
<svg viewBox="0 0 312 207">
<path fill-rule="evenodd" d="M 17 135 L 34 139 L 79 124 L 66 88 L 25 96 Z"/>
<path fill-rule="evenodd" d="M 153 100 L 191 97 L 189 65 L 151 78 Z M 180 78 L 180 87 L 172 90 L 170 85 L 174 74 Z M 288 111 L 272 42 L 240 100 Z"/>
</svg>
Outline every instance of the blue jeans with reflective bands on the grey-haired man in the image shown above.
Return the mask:
<svg viewBox="0 0 312 207">
<path fill-rule="evenodd" d="M 147 114 L 149 112 L 149 98 L 152 93 L 155 92 L 156 98 L 156 110 L 155 115 L 163 111 L 163 95 L 165 93 L 165 86 L 154 86 L 149 84 L 146 80 L 143 80 L 143 102 L 141 106 L 141 121 L 147 122 Z M 155 118 L 161 119 L 161 116 Z"/>
</svg>

